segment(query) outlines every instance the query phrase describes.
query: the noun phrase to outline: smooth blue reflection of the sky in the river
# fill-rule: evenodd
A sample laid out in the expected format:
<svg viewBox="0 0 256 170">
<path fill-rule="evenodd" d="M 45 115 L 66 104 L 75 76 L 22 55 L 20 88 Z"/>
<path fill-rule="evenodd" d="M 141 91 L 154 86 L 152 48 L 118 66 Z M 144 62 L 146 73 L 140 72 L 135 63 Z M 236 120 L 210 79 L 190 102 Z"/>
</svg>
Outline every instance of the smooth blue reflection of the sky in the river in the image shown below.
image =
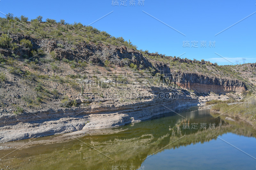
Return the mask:
<svg viewBox="0 0 256 170">
<path fill-rule="evenodd" d="M 232 133 L 219 136 L 256 158 L 256 139 Z M 145 169 L 255 169 L 256 160 L 221 139 L 164 150 L 148 157 Z"/>
</svg>

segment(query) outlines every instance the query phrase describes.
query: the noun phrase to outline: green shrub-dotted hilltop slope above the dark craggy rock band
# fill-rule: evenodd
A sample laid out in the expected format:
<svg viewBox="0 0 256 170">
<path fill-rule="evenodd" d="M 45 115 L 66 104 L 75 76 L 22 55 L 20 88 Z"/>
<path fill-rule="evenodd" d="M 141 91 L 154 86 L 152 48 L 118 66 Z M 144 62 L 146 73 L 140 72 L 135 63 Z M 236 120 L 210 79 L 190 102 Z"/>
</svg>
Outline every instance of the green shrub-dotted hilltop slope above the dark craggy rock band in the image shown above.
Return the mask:
<svg viewBox="0 0 256 170">
<path fill-rule="evenodd" d="M 100 31 L 92 26 L 84 26 L 80 22 L 68 24 L 63 19 L 57 22 L 49 18 L 46 19 L 46 22 L 42 22 L 42 19 L 42 16 L 38 16 L 36 19 L 28 21 L 25 16 L 13 17 L 13 14 L 9 13 L 5 18 L 0 17 L 0 30 L 5 33 L 22 33 L 25 36 L 38 39 L 54 38 L 67 41 L 69 44 L 92 41 L 96 44 L 102 42 L 137 49 L 131 42 L 124 41 L 123 37 L 111 36 L 105 31 Z M 2 44 L 2 47 L 7 47 L 7 44 Z"/>
</svg>

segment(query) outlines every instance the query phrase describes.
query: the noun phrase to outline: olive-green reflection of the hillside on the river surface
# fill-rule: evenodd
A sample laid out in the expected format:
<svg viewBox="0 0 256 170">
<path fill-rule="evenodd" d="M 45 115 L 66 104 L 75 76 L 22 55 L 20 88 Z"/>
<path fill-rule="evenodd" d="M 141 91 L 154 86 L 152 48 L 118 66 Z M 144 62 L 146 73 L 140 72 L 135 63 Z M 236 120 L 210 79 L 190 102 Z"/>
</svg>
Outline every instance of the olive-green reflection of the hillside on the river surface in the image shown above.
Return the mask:
<svg viewBox="0 0 256 170">
<path fill-rule="evenodd" d="M 111 169 L 111 166 L 136 166 L 137 168 L 151 154 L 189 144 L 208 142 L 228 132 L 255 137 L 254 130 L 244 124 L 226 122 L 222 118 L 214 119 L 214 115 L 201 112 L 208 111 L 194 110 L 187 114 L 182 113 L 187 118 L 186 121 L 176 114 L 168 117 L 161 115 L 157 119 L 115 128 L 115 131 L 118 129 L 120 131 L 112 134 L 87 135 L 79 140 L 30 147 L 16 151 L 18 154 L 16 153 L 15 160 L 12 154 L 8 155 L 7 161 L 22 164 L 22 166 L 17 165 L 16 168 L 24 169 L 58 169 L 60 167 L 61 169 Z M 198 129 L 183 129 L 183 123 L 188 121 L 189 124 L 198 123 Z M 200 130 L 200 123 L 209 124 L 210 122 L 216 124 L 215 129 Z M 123 129 L 126 130 L 123 131 Z M 177 139 L 179 140 L 174 142 Z M 83 152 L 82 161 L 81 152 Z M 31 159 L 29 164 L 26 163 L 28 159 Z"/>
</svg>

